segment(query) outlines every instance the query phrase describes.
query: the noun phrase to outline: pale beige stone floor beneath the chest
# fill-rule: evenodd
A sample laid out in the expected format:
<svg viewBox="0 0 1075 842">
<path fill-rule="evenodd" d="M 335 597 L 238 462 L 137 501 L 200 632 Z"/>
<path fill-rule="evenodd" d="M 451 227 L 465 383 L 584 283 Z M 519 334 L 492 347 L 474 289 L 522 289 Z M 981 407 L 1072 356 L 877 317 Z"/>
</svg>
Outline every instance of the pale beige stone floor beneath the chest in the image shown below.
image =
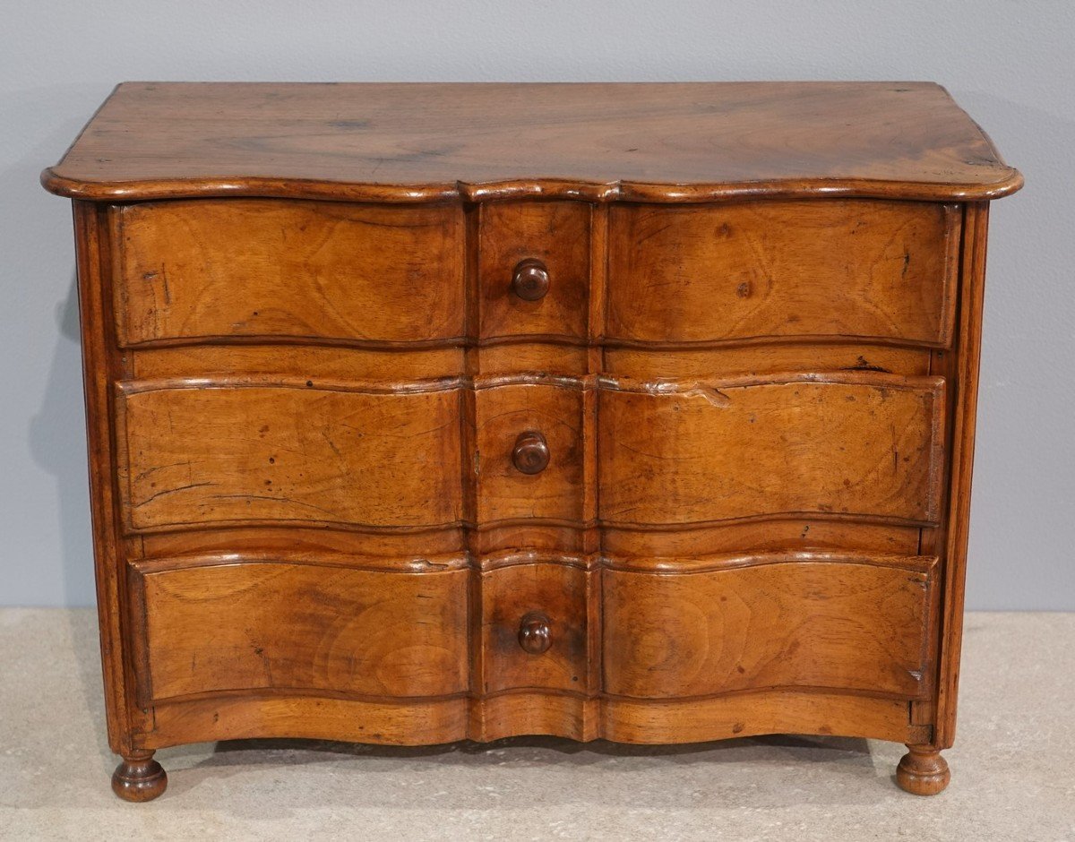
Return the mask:
<svg viewBox="0 0 1075 842">
<path fill-rule="evenodd" d="M 168 791 L 109 788 L 95 615 L 0 610 L 0 839 L 1075 840 L 1075 614 L 970 614 L 948 790 L 902 746 L 772 737 L 631 747 L 306 741 L 158 752 Z"/>
</svg>

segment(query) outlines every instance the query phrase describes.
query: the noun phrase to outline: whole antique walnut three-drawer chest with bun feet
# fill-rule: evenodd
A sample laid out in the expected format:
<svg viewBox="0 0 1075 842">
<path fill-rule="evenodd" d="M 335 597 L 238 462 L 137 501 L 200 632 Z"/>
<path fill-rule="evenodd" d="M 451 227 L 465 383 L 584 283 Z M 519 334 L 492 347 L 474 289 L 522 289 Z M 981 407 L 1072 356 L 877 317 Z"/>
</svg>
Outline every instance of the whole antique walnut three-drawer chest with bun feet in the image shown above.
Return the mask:
<svg viewBox="0 0 1075 842">
<path fill-rule="evenodd" d="M 771 732 L 948 782 L 988 202 L 922 83 L 120 85 L 74 200 L 113 787 Z"/>
</svg>

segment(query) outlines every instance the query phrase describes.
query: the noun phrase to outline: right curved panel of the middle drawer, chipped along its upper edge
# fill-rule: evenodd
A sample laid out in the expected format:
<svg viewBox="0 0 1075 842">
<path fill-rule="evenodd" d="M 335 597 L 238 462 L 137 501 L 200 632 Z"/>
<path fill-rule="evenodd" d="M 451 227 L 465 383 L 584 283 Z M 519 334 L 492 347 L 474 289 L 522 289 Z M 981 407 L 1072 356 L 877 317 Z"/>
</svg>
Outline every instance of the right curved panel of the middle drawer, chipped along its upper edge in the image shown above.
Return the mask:
<svg viewBox="0 0 1075 842">
<path fill-rule="evenodd" d="M 848 372 L 664 385 L 621 382 L 600 394 L 605 523 L 800 514 L 936 523 L 940 377 Z"/>
</svg>

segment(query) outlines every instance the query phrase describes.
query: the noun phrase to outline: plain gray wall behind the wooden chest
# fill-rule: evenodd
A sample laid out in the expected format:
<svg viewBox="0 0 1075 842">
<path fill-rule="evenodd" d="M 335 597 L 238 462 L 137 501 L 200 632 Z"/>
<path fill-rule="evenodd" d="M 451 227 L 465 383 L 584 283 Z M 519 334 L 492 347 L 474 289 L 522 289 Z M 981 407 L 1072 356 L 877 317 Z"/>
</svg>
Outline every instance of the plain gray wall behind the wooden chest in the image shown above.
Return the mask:
<svg viewBox="0 0 1075 842">
<path fill-rule="evenodd" d="M 14 6 L 14 8 L 13 8 Z M 1075 610 L 1075 4 L 33 0 L 0 27 L 0 604 L 94 600 L 68 203 L 121 80 L 935 80 L 1028 186 L 993 206 L 968 603 Z"/>
</svg>

